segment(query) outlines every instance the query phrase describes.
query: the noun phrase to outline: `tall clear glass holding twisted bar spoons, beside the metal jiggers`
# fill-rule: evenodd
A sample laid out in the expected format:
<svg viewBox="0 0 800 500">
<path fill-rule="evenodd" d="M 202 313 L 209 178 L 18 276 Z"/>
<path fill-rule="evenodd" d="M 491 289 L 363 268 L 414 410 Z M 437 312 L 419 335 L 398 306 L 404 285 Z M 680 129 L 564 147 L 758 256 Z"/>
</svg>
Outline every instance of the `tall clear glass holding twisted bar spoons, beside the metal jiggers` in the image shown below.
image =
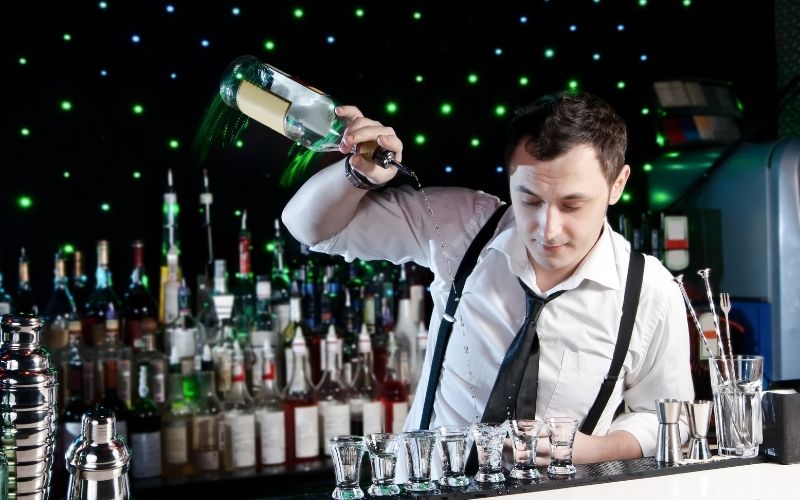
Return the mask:
<svg viewBox="0 0 800 500">
<path fill-rule="evenodd" d="M 755 457 L 762 440 L 763 356 L 710 358 L 711 390 L 720 455 Z"/>
</svg>

